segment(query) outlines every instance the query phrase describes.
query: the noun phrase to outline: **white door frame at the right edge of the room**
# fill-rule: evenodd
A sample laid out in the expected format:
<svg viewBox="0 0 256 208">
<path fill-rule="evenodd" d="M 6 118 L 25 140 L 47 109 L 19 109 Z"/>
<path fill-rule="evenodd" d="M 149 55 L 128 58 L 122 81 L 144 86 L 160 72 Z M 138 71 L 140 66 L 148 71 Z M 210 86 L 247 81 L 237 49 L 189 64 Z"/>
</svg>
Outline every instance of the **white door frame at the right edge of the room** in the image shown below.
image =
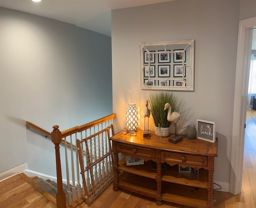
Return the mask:
<svg viewBox="0 0 256 208">
<path fill-rule="evenodd" d="M 244 160 L 244 134 L 246 124 L 246 104 L 248 94 L 248 58 L 249 33 L 256 26 L 256 17 L 239 22 L 238 46 L 236 57 L 236 84 L 234 94 L 232 151 L 230 168 L 230 193 L 236 195 L 242 189 L 242 173 Z"/>
</svg>

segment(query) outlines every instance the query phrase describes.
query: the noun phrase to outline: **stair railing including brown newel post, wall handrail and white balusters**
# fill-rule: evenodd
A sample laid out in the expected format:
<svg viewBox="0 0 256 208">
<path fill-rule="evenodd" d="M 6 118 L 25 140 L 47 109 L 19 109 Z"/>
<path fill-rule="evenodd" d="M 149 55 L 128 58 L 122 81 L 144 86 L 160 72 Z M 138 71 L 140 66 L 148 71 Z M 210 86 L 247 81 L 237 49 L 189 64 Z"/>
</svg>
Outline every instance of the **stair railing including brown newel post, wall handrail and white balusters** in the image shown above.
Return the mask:
<svg viewBox="0 0 256 208">
<path fill-rule="evenodd" d="M 47 132 L 46 130 L 44 130 L 30 122 L 26 122 L 27 126 L 30 126 L 31 128 L 41 132 L 43 135 L 45 135 L 46 138 L 48 136 L 51 136 L 52 142 L 55 145 L 56 171 L 57 171 L 57 184 L 58 184 L 58 191 L 56 193 L 57 208 L 64 208 L 64 207 L 66 207 L 66 204 L 68 204 L 68 206 L 75 207 L 84 201 L 86 201 L 88 206 L 90 206 L 90 203 L 92 202 L 92 200 L 89 201 L 88 196 L 86 196 L 85 188 L 87 188 L 87 187 L 83 186 L 81 189 L 81 182 L 80 182 L 81 169 L 80 169 L 79 158 L 78 158 L 78 150 L 80 147 L 77 146 L 76 140 L 82 141 L 83 139 L 90 138 L 90 142 L 92 145 L 98 144 L 98 143 L 100 144 L 103 142 L 103 140 L 104 140 L 104 142 L 106 142 L 106 138 L 103 138 L 101 136 L 94 138 L 93 135 L 98 134 L 98 132 L 100 132 L 106 128 L 110 128 L 110 131 L 109 131 L 110 133 L 109 133 L 108 137 L 114 135 L 114 128 L 113 128 L 114 118 L 116 118 L 116 114 L 110 114 L 108 116 L 94 120 L 87 124 L 83 124 L 81 126 L 75 126 L 75 127 L 72 127 L 70 129 L 67 129 L 64 131 L 60 131 L 59 126 L 56 125 L 56 126 L 53 126 L 52 133 Z M 102 141 L 99 141 L 99 139 Z M 60 158 L 60 143 L 63 143 L 64 148 L 65 148 L 65 164 L 66 164 L 66 178 L 65 179 L 67 182 L 66 194 L 63 191 L 63 185 L 62 185 L 62 169 L 61 169 L 61 162 L 60 162 L 60 159 L 61 159 Z M 108 151 L 111 151 L 109 147 L 108 147 Z M 96 154 L 97 154 L 97 152 L 92 152 L 92 150 L 90 150 L 89 154 L 85 150 L 82 150 L 82 155 L 84 157 L 93 158 L 95 161 L 98 157 L 98 156 L 96 156 Z M 102 171 L 101 173 L 98 172 L 94 166 L 93 172 L 96 172 L 96 174 L 94 174 L 94 178 L 92 178 L 91 176 L 87 177 L 85 179 L 86 184 L 90 184 L 91 181 L 97 181 L 98 178 L 103 178 L 103 177 L 105 177 L 106 180 L 108 180 L 108 182 L 111 182 L 112 176 L 110 177 L 110 174 L 106 174 L 106 173 L 110 173 L 110 172 L 112 174 L 112 161 L 110 161 L 110 160 L 107 162 L 105 170 L 100 169 L 100 171 Z M 100 162 L 100 164 L 101 163 L 102 163 L 102 161 Z M 99 164 L 96 165 L 96 167 L 97 166 L 99 166 Z M 102 168 L 102 169 L 104 169 L 104 168 Z M 108 177 L 106 177 L 106 176 L 108 176 Z M 65 179 L 63 179 L 63 180 L 65 180 Z M 66 195 L 67 195 L 67 197 L 66 197 Z M 95 195 L 93 200 L 96 197 L 97 196 Z"/>
</svg>

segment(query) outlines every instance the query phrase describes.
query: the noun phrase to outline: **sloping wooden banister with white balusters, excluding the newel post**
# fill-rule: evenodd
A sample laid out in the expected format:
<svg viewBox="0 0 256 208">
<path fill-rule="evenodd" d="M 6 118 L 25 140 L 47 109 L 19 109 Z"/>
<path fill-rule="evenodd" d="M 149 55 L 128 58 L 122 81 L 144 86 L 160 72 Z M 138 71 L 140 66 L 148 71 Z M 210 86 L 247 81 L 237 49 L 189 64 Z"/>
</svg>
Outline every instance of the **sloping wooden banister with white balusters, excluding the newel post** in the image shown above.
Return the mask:
<svg viewBox="0 0 256 208">
<path fill-rule="evenodd" d="M 110 114 L 108 116 L 105 116 L 103 118 L 94 120 L 92 122 L 89 122 L 87 124 L 83 124 L 81 126 L 75 126 L 73 128 L 70 128 L 68 130 L 64 130 L 61 132 L 62 134 L 62 141 L 64 141 L 65 144 L 65 159 L 66 159 L 66 179 L 67 179 L 67 203 L 69 206 L 72 205 L 72 201 L 76 202 L 78 199 L 77 198 L 83 198 L 82 201 L 84 200 L 86 201 L 86 203 L 88 204 L 88 206 L 90 206 L 90 203 L 97 197 L 96 195 L 94 195 L 92 198 L 92 194 L 90 194 L 90 197 L 88 196 L 88 191 L 86 191 L 86 189 L 88 189 L 88 187 L 84 187 L 82 188 L 83 193 L 81 193 L 81 183 L 80 183 L 80 174 L 82 173 L 81 170 L 81 166 L 79 166 L 79 158 L 78 158 L 78 150 L 80 150 L 80 146 L 77 146 L 77 142 L 76 140 L 84 140 L 87 138 L 90 138 L 90 141 L 92 144 L 95 144 L 96 140 L 97 142 L 102 143 L 103 140 L 106 142 L 106 138 L 105 137 L 101 137 L 100 139 L 102 141 L 99 141 L 99 137 L 94 138 L 94 135 L 99 134 L 102 130 L 109 128 L 110 126 L 111 131 L 109 133 L 108 136 L 112 136 L 114 135 L 114 128 L 113 128 L 113 122 L 114 122 L 114 118 L 116 118 L 116 114 Z M 108 138 L 107 138 L 108 139 Z M 94 140 L 94 141 L 93 141 Z M 68 149 L 68 144 L 70 144 L 70 149 Z M 70 152 L 69 152 L 70 150 Z M 104 150 L 104 149 L 103 149 Z M 94 153 L 92 152 L 92 149 L 90 149 L 90 152 L 88 153 L 88 151 L 86 150 L 80 150 L 82 151 L 82 155 L 83 157 L 90 157 L 90 158 L 94 158 L 94 161 L 96 163 L 97 160 L 97 156 L 95 150 Z M 108 151 L 111 151 L 110 148 L 108 148 Z M 74 154 L 76 156 L 74 156 Z M 82 158 L 83 160 L 83 158 Z M 100 168 L 99 165 L 96 165 Z M 112 174 L 112 177 L 110 177 L 110 174 L 106 174 L 106 172 L 113 172 L 112 171 L 112 162 L 111 164 L 108 161 L 108 165 L 107 168 L 102 171 L 101 173 L 98 172 L 98 170 L 96 170 L 95 166 L 94 166 L 94 178 L 91 178 L 91 176 L 85 178 L 85 180 L 87 181 L 87 183 L 82 183 L 82 184 L 90 184 L 90 182 L 97 181 L 98 178 L 102 178 L 105 177 L 106 180 L 108 180 L 108 183 L 112 182 L 114 174 Z M 71 176 L 70 176 L 71 174 Z M 83 174 L 83 173 L 82 173 Z M 102 176 L 99 176 L 98 174 L 102 174 Z M 75 181 L 75 176 L 77 181 Z M 88 183 L 89 181 L 89 183 Z M 73 197 L 71 197 L 71 194 Z M 89 197 L 89 198 L 88 198 Z M 72 200 L 71 200 L 72 198 Z M 58 206 L 57 206 L 58 207 Z"/>
</svg>

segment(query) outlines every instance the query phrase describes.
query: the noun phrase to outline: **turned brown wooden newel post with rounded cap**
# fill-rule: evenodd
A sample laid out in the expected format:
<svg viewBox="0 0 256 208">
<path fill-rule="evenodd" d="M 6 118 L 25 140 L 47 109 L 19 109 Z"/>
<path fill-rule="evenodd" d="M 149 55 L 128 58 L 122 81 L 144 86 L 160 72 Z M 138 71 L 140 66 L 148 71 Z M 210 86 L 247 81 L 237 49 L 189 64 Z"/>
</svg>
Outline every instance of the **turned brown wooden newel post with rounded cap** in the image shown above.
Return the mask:
<svg viewBox="0 0 256 208">
<path fill-rule="evenodd" d="M 60 142 L 62 140 L 62 136 L 61 136 L 61 131 L 58 129 L 59 126 L 53 126 L 52 128 L 53 128 L 52 142 L 55 145 L 56 172 L 57 172 L 57 184 L 58 184 L 58 191 L 56 193 L 56 204 L 57 204 L 57 208 L 66 208 L 66 194 L 63 191 L 61 165 L 60 165 Z"/>
</svg>

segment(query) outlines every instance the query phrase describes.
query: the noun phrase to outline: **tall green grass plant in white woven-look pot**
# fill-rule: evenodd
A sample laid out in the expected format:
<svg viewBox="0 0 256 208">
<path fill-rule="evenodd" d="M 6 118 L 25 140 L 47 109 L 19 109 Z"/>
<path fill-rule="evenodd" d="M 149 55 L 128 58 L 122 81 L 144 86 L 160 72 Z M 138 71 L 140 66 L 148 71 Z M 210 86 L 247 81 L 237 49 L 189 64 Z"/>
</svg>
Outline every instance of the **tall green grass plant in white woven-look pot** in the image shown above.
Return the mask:
<svg viewBox="0 0 256 208">
<path fill-rule="evenodd" d="M 171 122 L 167 120 L 168 111 L 164 111 L 164 105 L 169 103 L 172 112 L 180 112 L 184 106 L 184 101 L 179 99 L 170 91 L 151 93 L 148 96 L 149 110 L 155 124 L 155 134 L 157 136 L 169 136 Z"/>
</svg>

